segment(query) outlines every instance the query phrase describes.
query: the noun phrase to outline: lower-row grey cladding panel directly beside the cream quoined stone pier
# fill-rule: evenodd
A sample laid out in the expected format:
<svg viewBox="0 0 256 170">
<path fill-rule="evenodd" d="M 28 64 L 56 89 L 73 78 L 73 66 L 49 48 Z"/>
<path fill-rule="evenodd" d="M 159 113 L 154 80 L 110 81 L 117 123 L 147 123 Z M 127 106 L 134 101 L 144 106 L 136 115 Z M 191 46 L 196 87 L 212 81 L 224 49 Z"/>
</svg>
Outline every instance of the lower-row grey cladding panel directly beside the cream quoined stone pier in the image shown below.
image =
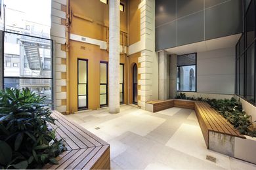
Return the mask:
<svg viewBox="0 0 256 170">
<path fill-rule="evenodd" d="M 176 21 L 156 28 L 156 51 L 176 46 Z"/>
</svg>

